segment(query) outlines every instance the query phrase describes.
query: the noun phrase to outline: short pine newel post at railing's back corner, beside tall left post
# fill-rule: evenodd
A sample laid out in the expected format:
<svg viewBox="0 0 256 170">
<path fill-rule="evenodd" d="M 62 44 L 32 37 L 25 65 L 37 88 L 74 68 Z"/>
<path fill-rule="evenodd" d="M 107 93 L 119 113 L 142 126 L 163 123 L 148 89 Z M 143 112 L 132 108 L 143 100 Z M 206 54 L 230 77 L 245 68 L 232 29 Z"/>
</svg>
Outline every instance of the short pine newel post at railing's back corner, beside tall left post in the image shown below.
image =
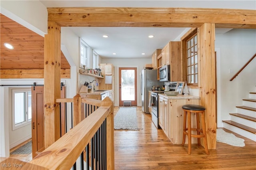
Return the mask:
<svg viewBox="0 0 256 170">
<path fill-rule="evenodd" d="M 76 126 L 78 123 L 80 123 L 84 119 L 83 115 L 83 108 L 84 104 L 82 103 L 82 97 L 80 94 L 77 94 L 74 96 L 74 126 Z"/>
</svg>

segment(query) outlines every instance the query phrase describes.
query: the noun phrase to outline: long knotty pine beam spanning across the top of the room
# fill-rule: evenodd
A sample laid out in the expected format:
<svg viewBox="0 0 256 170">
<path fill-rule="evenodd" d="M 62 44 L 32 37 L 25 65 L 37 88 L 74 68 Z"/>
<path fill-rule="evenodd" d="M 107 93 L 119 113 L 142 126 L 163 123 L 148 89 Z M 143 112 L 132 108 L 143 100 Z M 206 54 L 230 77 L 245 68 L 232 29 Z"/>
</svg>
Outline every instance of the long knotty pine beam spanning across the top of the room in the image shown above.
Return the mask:
<svg viewBox="0 0 256 170">
<path fill-rule="evenodd" d="M 214 23 L 216 28 L 256 28 L 255 10 L 91 7 L 47 10 L 48 21 L 64 27 L 200 27 Z"/>
</svg>

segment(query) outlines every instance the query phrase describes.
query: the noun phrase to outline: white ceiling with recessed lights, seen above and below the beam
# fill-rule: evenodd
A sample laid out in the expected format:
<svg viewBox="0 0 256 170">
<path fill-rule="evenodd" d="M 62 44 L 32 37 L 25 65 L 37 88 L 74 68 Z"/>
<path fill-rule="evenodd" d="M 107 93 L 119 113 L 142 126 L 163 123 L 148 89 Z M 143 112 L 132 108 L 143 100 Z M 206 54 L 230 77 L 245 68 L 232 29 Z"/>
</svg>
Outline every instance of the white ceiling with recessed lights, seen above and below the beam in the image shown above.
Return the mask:
<svg viewBox="0 0 256 170">
<path fill-rule="evenodd" d="M 256 0 L 40 0 L 46 7 L 166 7 L 256 9 Z M 189 28 L 73 27 L 102 58 L 150 58 Z M 230 29 L 216 29 L 223 34 Z M 108 38 L 103 38 L 108 35 Z M 154 35 L 154 38 L 148 38 Z M 116 53 L 113 55 L 112 53 Z M 145 53 L 145 55 L 142 55 Z"/>
</svg>

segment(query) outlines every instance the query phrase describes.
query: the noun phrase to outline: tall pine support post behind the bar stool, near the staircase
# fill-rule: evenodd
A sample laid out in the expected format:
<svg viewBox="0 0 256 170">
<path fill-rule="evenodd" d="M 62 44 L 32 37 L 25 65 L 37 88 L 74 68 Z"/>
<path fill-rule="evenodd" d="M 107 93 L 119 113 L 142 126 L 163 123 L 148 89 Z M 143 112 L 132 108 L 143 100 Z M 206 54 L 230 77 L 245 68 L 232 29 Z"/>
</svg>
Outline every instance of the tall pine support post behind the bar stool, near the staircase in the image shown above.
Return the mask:
<svg viewBox="0 0 256 170">
<path fill-rule="evenodd" d="M 198 31 L 201 73 L 201 105 L 206 107 L 206 134 L 209 149 L 216 149 L 216 62 L 215 25 L 203 24 Z"/>
</svg>

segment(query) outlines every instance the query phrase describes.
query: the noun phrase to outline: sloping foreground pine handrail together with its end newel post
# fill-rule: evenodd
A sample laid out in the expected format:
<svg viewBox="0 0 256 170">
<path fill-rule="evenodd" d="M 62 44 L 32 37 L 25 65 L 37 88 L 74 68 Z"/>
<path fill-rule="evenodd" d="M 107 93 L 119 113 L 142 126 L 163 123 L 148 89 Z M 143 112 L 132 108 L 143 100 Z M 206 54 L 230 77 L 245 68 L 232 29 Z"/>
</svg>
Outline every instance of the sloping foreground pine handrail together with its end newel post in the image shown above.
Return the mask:
<svg viewBox="0 0 256 170">
<path fill-rule="evenodd" d="M 112 102 L 111 99 L 104 99 L 102 106 L 29 163 L 52 170 L 70 169 L 105 119 L 107 119 L 107 130 L 112 129 L 110 130 L 110 136 L 107 136 L 106 143 L 112 143 L 113 145 L 114 119 L 113 105 L 109 105 L 110 102 Z M 114 169 L 114 158 L 111 157 L 112 152 L 114 153 L 114 147 L 107 147 L 107 169 Z"/>
</svg>

